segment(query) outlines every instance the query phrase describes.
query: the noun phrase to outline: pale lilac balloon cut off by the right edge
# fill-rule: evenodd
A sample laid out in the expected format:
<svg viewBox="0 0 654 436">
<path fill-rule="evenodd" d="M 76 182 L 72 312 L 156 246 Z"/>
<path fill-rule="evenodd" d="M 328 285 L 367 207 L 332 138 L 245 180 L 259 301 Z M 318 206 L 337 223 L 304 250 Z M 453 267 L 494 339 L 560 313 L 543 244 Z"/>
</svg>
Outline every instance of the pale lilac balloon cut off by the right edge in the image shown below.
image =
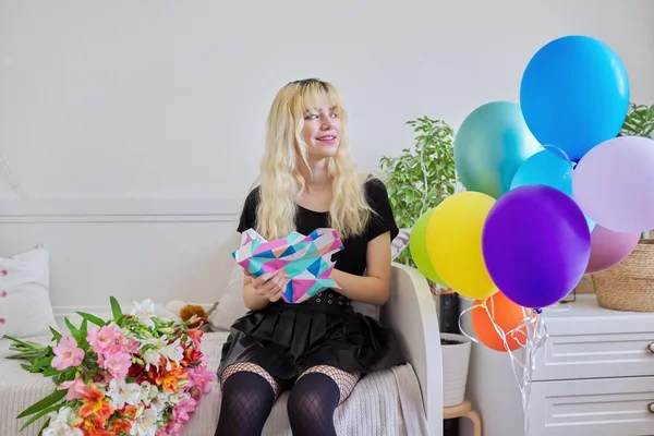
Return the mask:
<svg viewBox="0 0 654 436">
<path fill-rule="evenodd" d="M 597 225 L 620 232 L 654 229 L 654 141 L 620 136 L 581 158 L 572 196 Z"/>
</svg>

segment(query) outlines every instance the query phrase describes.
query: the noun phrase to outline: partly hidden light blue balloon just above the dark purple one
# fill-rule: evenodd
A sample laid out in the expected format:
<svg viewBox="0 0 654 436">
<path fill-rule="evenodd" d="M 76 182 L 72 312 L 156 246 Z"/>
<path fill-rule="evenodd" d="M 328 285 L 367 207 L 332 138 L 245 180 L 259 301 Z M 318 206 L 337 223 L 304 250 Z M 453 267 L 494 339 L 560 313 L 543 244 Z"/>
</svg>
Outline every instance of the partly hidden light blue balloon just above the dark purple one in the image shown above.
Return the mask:
<svg viewBox="0 0 654 436">
<path fill-rule="evenodd" d="M 572 196 L 572 170 L 574 164 L 565 159 L 560 152 L 549 148 L 538 152 L 526 159 L 513 175 L 511 190 L 528 184 L 544 184 L 552 186 L 571 198 Z M 585 217 L 589 230 L 593 231 L 595 221 Z"/>
</svg>

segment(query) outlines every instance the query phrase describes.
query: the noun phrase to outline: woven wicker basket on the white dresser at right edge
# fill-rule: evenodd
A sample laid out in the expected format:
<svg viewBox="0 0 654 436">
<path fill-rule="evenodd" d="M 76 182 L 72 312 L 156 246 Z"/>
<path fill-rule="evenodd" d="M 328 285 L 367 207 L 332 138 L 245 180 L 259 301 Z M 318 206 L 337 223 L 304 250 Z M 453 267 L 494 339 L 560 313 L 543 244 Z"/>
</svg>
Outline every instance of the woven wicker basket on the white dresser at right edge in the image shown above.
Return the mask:
<svg viewBox="0 0 654 436">
<path fill-rule="evenodd" d="M 625 261 L 591 279 L 602 307 L 654 312 L 654 240 L 640 240 Z"/>
</svg>

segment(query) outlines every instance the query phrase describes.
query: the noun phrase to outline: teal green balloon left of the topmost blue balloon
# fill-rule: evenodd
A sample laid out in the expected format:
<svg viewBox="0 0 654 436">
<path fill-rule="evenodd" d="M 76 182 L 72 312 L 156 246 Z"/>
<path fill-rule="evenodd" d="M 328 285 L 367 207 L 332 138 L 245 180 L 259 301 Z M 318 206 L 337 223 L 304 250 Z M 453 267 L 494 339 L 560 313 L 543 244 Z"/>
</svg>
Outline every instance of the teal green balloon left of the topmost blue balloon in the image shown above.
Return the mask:
<svg viewBox="0 0 654 436">
<path fill-rule="evenodd" d="M 518 168 L 540 147 L 520 106 L 493 101 L 463 120 L 455 138 L 455 165 L 468 191 L 499 198 L 511 189 Z"/>
</svg>

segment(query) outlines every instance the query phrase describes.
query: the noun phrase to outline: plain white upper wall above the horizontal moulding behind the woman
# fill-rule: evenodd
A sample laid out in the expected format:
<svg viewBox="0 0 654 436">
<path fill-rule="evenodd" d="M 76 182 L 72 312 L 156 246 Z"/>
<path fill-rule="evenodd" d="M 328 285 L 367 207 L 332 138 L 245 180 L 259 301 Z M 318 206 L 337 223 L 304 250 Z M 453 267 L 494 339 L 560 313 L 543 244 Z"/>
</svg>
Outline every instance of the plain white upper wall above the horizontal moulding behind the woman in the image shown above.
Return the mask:
<svg viewBox="0 0 654 436">
<path fill-rule="evenodd" d="M 609 44 L 654 102 L 654 2 L 0 0 L 0 153 L 32 197 L 242 195 L 288 81 L 340 87 L 360 166 L 517 100 L 550 39 Z M 400 5 L 401 4 L 401 5 Z M 0 183 L 0 197 L 11 197 Z"/>
</svg>

